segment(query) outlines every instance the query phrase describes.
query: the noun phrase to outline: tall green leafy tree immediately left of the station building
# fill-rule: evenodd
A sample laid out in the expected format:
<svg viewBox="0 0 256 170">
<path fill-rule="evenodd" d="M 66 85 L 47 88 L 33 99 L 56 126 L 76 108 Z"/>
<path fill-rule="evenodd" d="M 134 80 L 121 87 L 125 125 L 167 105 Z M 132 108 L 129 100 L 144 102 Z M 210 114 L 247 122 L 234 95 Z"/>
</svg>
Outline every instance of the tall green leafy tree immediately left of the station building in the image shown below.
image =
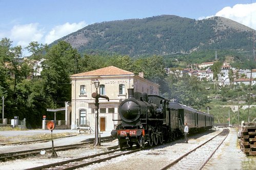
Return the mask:
<svg viewBox="0 0 256 170">
<path fill-rule="evenodd" d="M 70 75 L 75 72 L 75 60 L 79 58 L 77 50 L 65 41 L 59 41 L 46 53 L 41 74 L 49 107 L 63 107 L 65 101 L 71 100 Z"/>
</svg>

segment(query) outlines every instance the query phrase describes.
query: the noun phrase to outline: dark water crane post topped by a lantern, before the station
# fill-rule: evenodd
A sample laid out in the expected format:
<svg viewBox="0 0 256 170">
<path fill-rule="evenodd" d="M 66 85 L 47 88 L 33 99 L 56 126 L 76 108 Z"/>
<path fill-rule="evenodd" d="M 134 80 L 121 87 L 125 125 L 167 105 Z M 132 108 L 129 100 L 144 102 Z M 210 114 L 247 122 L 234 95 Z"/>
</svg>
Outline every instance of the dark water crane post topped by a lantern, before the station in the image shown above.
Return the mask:
<svg viewBox="0 0 256 170">
<path fill-rule="evenodd" d="M 98 94 L 98 88 L 100 86 L 100 82 L 98 79 L 94 81 L 94 86 L 96 88 L 96 93 L 92 93 L 91 96 L 95 98 L 95 109 L 96 109 L 96 116 L 95 116 L 95 139 L 94 139 L 94 147 L 95 146 L 101 146 L 101 143 L 99 142 L 99 128 L 98 128 L 98 120 L 99 120 L 99 98 L 105 98 L 109 101 L 109 98 L 107 96 L 102 96 Z"/>
</svg>

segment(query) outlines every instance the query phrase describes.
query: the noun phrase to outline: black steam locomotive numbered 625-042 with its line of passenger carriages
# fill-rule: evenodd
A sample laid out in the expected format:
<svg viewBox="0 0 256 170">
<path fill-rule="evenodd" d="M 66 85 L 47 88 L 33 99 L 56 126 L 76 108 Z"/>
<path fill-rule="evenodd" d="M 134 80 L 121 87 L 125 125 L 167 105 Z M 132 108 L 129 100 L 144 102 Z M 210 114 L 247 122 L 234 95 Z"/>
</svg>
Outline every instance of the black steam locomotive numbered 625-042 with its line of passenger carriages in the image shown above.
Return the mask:
<svg viewBox="0 0 256 170">
<path fill-rule="evenodd" d="M 145 144 L 157 145 L 183 136 L 184 123 L 189 132 L 209 130 L 213 126 L 213 116 L 186 107 L 180 103 L 158 95 L 142 93 L 134 97 L 133 89 L 128 89 L 128 99 L 119 105 L 121 123 L 111 132 L 124 147 L 144 148 Z"/>
</svg>

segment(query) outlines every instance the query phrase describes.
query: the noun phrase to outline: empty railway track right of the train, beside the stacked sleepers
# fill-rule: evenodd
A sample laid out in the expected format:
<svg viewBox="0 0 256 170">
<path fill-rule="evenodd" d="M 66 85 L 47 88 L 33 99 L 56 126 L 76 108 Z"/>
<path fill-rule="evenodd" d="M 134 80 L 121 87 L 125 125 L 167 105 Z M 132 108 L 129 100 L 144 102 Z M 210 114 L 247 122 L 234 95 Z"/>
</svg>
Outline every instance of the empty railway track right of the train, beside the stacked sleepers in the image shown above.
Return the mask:
<svg viewBox="0 0 256 170">
<path fill-rule="evenodd" d="M 229 130 L 224 129 L 218 135 L 195 147 L 162 169 L 202 169 L 221 146 L 228 134 Z M 203 156 L 201 157 L 200 155 Z"/>
</svg>

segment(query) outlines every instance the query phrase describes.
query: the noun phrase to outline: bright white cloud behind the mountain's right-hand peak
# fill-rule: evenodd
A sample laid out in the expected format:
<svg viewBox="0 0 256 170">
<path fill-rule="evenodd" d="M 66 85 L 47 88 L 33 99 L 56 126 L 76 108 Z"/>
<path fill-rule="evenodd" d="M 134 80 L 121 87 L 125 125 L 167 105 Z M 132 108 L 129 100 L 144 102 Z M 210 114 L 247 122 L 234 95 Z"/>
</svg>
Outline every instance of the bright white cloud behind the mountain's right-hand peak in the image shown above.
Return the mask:
<svg viewBox="0 0 256 170">
<path fill-rule="evenodd" d="M 233 7 L 225 7 L 214 16 L 223 16 L 256 30 L 256 3 L 237 4 Z M 199 19 L 209 17 L 212 16 L 200 17 Z"/>
</svg>

